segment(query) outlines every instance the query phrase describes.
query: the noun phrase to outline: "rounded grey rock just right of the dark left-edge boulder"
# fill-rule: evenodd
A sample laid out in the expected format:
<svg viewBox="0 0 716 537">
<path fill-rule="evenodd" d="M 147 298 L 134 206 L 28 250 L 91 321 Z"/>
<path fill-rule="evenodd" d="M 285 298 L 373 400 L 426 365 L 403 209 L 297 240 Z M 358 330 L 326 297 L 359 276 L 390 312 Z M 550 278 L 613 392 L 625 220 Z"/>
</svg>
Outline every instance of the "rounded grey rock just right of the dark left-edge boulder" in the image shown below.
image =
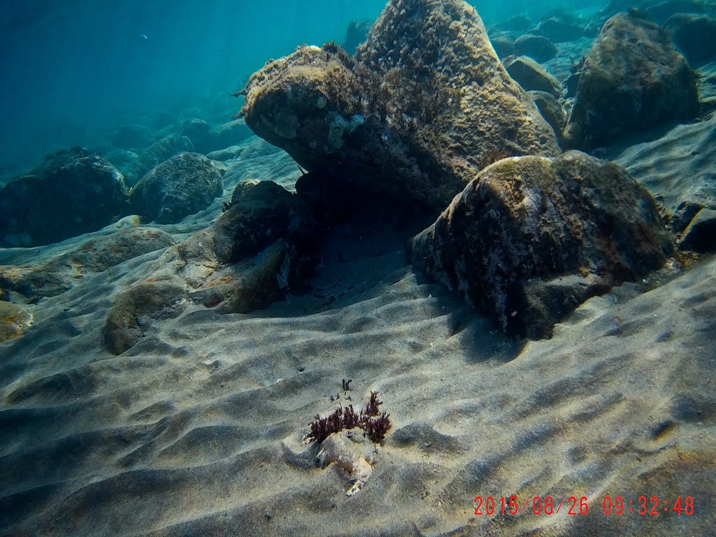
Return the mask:
<svg viewBox="0 0 716 537">
<path fill-rule="evenodd" d="M 180 153 L 147 173 L 130 193 L 132 209 L 147 221 L 177 223 L 223 193 L 221 173 L 198 153 Z"/>
</svg>

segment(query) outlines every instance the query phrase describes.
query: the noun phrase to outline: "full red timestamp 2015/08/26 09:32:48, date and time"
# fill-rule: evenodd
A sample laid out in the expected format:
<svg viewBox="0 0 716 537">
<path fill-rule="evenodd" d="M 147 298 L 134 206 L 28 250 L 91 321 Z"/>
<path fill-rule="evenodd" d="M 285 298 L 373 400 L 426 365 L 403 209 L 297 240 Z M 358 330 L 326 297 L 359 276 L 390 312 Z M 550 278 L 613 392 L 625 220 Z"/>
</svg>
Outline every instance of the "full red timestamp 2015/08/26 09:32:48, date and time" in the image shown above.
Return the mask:
<svg viewBox="0 0 716 537">
<path fill-rule="evenodd" d="M 521 501 L 518 496 L 475 496 L 475 515 L 492 516 L 501 515 L 522 515 L 532 513 L 533 515 L 556 515 L 563 508 L 568 515 L 586 515 L 589 513 L 589 501 L 586 496 L 563 496 L 552 498 L 551 496 L 528 496 Z M 662 508 L 662 505 L 664 506 Z M 656 516 L 665 513 L 676 513 L 677 515 L 694 514 L 694 498 L 677 496 L 674 500 L 659 498 L 657 496 L 639 496 L 636 499 L 623 498 L 621 496 L 604 496 L 601 500 L 601 508 L 605 515 L 625 515 L 634 513 L 637 515 Z"/>
</svg>

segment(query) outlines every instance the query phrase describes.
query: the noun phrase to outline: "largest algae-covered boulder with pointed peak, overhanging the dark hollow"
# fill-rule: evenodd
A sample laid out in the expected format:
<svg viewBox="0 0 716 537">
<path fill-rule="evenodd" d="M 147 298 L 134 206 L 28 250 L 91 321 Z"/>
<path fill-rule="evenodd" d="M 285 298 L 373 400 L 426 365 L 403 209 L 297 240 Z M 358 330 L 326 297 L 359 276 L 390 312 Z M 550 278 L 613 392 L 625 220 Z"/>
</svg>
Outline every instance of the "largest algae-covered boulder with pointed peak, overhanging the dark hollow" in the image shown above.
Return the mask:
<svg viewBox="0 0 716 537">
<path fill-rule="evenodd" d="M 462 0 L 392 0 L 354 58 L 299 47 L 243 92 L 246 124 L 302 167 L 431 211 L 495 160 L 559 153 Z"/>
</svg>

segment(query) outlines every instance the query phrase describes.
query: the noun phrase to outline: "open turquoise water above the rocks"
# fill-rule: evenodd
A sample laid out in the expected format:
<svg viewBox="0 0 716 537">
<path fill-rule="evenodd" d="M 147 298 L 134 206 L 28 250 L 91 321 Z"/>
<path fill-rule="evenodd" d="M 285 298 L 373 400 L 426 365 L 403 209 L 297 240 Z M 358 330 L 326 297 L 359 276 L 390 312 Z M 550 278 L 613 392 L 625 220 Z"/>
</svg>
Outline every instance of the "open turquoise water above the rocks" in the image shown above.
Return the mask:
<svg viewBox="0 0 716 537">
<path fill-rule="evenodd" d="M 602 3 L 477 1 L 485 24 L 526 11 Z M 21 170 L 49 150 L 100 145 L 123 123 L 161 112 L 227 120 L 229 94 L 297 45 L 342 42 L 381 0 L 72 0 L 3 6 L 0 166 Z M 145 35 L 148 39 L 142 39 Z M 193 113 L 190 113 L 193 112 Z"/>
</svg>

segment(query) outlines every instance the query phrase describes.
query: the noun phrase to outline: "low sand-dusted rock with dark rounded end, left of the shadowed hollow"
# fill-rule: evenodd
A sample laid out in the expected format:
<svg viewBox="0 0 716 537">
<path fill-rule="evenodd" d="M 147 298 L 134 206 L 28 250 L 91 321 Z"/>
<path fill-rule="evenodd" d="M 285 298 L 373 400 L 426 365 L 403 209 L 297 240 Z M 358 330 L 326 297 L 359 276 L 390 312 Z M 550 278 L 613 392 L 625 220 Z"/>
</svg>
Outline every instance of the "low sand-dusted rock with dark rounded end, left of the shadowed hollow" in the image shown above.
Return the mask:
<svg viewBox="0 0 716 537">
<path fill-rule="evenodd" d="M 211 226 L 168 248 L 149 276 L 115 294 L 105 347 L 121 354 L 189 306 L 222 314 L 268 306 L 301 271 L 301 256 L 315 246 L 311 230 L 296 194 L 271 181 L 240 183 Z"/>
</svg>

